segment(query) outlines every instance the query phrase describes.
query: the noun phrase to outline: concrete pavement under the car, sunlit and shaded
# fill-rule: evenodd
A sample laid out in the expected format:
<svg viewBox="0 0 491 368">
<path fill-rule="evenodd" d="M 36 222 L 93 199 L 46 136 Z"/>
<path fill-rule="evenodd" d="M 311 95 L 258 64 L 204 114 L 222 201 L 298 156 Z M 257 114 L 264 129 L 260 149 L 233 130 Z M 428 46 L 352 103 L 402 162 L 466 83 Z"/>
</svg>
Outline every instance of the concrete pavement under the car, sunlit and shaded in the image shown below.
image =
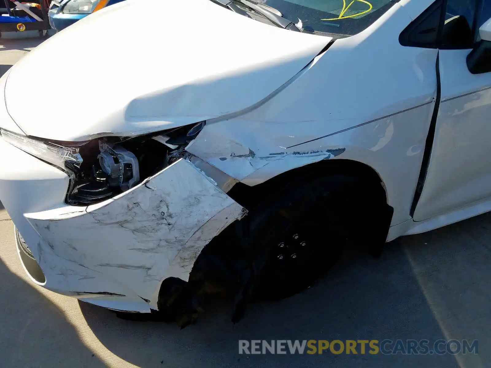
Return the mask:
<svg viewBox="0 0 491 368">
<path fill-rule="evenodd" d="M 0 40 L 8 67 L 38 39 Z M 47 72 L 47 71 L 45 71 Z M 251 305 L 230 322 L 217 303 L 194 326 L 118 319 L 34 285 L 0 205 L 1 367 L 491 367 L 491 213 L 389 244 L 381 259 L 347 252 L 318 285 Z M 467 355 L 251 355 L 238 340 L 479 340 Z"/>
</svg>

